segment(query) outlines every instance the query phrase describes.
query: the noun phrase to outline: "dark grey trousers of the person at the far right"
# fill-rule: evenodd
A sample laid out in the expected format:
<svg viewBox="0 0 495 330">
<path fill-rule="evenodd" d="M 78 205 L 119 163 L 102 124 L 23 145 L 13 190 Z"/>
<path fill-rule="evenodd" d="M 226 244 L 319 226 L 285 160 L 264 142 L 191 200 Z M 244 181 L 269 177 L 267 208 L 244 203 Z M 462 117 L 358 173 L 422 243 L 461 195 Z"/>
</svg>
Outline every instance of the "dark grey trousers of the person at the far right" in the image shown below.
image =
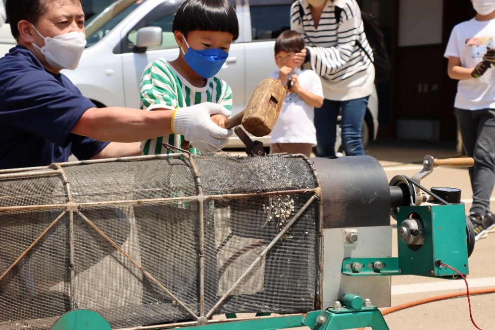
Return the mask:
<svg viewBox="0 0 495 330">
<path fill-rule="evenodd" d="M 495 186 L 495 109 L 454 109 L 462 143 L 468 157 L 474 158 L 469 168 L 473 204 L 470 213 L 490 212 L 490 196 Z"/>
</svg>

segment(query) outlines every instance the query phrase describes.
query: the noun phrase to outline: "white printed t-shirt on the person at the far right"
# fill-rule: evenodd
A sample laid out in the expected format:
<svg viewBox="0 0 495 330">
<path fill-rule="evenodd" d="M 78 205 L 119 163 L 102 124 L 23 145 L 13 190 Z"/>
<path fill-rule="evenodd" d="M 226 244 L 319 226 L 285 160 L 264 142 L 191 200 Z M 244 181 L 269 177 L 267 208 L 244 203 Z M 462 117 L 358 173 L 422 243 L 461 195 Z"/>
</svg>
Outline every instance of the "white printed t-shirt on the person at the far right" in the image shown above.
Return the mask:
<svg viewBox="0 0 495 330">
<path fill-rule="evenodd" d="M 474 68 L 483 60 L 486 47 L 495 48 L 495 19 L 462 22 L 452 30 L 444 56 L 457 57 L 464 68 Z M 495 108 L 495 68 L 481 77 L 460 80 L 454 106 L 465 110 Z"/>
</svg>

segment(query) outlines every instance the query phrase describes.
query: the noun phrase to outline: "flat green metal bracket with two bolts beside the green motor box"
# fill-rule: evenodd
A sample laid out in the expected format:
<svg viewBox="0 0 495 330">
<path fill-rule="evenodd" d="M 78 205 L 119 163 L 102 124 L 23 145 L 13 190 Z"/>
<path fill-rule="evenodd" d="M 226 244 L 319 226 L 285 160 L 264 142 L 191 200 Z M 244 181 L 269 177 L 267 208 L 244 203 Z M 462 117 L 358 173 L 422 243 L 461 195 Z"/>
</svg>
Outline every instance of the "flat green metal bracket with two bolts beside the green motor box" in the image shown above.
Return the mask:
<svg viewBox="0 0 495 330">
<path fill-rule="evenodd" d="M 390 276 L 401 275 L 399 258 L 345 258 L 342 274 L 347 276 Z"/>
</svg>

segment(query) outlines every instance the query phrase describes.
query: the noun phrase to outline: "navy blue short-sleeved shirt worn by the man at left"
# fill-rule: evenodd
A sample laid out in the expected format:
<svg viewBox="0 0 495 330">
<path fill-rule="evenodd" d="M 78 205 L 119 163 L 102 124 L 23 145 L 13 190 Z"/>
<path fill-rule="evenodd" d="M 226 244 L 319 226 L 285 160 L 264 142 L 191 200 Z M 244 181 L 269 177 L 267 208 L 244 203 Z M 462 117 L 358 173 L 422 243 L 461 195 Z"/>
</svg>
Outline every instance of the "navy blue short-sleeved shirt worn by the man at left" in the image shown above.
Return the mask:
<svg viewBox="0 0 495 330">
<path fill-rule="evenodd" d="M 71 133 L 92 107 L 67 77 L 46 71 L 26 48 L 12 48 L 0 58 L 0 169 L 47 166 L 71 152 L 93 157 L 108 142 Z"/>
</svg>

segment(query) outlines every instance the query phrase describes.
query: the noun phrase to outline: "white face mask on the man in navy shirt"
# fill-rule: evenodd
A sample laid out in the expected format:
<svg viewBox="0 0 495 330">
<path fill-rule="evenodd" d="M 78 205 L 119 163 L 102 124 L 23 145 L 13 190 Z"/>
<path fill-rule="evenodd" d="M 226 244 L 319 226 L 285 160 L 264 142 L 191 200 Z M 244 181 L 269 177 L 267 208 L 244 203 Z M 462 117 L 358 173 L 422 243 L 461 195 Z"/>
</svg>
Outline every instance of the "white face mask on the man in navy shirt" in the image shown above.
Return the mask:
<svg viewBox="0 0 495 330">
<path fill-rule="evenodd" d="M 74 70 L 77 68 L 82 51 L 86 46 L 86 36 L 84 33 L 75 31 L 53 38 L 45 38 L 36 30 L 34 25 L 33 28 L 44 39 L 43 47 L 38 47 L 34 42 L 33 46 L 39 49 L 48 64 L 57 69 Z"/>
</svg>

